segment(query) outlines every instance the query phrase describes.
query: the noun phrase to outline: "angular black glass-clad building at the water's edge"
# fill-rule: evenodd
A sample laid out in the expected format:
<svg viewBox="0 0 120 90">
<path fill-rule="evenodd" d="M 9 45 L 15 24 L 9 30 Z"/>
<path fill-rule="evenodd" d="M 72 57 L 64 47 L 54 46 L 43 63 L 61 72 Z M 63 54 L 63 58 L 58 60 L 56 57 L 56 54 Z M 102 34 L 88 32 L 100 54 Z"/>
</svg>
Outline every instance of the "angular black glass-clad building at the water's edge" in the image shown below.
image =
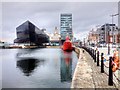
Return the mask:
<svg viewBox="0 0 120 90">
<path fill-rule="evenodd" d="M 30 21 L 26 21 L 16 28 L 17 38 L 14 43 L 29 43 L 30 45 L 43 45 L 49 42 L 49 36 Z"/>
</svg>

